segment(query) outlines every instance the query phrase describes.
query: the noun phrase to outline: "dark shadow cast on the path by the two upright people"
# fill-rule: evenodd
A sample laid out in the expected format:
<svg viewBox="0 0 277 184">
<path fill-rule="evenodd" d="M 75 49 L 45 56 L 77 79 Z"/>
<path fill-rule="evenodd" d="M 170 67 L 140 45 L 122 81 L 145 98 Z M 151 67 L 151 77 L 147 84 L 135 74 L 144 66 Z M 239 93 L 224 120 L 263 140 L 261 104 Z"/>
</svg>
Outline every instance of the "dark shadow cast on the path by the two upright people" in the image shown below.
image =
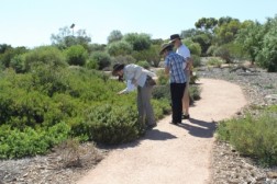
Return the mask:
<svg viewBox="0 0 277 184">
<path fill-rule="evenodd" d="M 191 136 L 201 137 L 201 138 L 211 138 L 213 137 L 215 130 L 214 122 L 203 122 L 195 118 L 190 118 L 191 124 L 181 123 L 178 124 L 178 127 L 185 128 Z"/>
</svg>

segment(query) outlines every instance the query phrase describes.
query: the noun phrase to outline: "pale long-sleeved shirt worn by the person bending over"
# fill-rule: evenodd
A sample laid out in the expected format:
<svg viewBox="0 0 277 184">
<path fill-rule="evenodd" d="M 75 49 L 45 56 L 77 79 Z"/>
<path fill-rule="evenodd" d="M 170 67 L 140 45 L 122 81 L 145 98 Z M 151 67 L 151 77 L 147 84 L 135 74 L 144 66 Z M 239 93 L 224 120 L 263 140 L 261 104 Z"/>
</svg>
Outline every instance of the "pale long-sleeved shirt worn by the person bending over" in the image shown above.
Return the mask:
<svg viewBox="0 0 277 184">
<path fill-rule="evenodd" d="M 147 76 L 149 76 L 149 77 L 156 76 L 154 72 L 146 70 L 143 67 L 134 65 L 134 64 L 126 65 L 124 67 L 123 71 L 124 71 L 124 78 L 126 81 L 130 82 L 133 79 L 135 79 L 136 84 L 140 87 L 144 87 Z M 132 91 L 131 89 L 133 89 L 133 88 L 129 87 L 124 90 L 124 92 L 130 92 L 130 91 Z"/>
</svg>

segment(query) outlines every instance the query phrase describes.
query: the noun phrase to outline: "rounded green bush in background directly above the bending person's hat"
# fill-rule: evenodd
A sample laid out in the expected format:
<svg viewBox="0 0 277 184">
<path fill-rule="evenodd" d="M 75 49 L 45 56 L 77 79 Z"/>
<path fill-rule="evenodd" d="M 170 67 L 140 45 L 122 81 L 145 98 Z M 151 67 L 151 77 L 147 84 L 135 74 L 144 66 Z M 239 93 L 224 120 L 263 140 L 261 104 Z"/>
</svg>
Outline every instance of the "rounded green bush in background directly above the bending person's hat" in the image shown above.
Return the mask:
<svg viewBox="0 0 277 184">
<path fill-rule="evenodd" d="M 107 51 L 111 56 L 125 56 L 132 53 L 132 45 L 125 41 L 113 42 L 107 46 Z"/>
</svg>

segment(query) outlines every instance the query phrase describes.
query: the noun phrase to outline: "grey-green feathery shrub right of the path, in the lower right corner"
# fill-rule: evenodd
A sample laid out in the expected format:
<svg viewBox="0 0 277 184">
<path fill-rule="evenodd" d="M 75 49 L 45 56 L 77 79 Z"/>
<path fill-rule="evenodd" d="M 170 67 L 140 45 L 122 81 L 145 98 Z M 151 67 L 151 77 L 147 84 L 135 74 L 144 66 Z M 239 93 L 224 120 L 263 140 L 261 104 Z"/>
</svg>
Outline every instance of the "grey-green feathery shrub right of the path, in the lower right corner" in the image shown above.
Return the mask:
<svg viewBox="0 0 277 184">
<path fill-rule="evenodd" d="M 242 154 L 262 165 L 277 164 L 277 112 L 263 112 L 257 117 L 233 118 L 219 124 L 218 139 L 229 141 Z"/>
</svg>

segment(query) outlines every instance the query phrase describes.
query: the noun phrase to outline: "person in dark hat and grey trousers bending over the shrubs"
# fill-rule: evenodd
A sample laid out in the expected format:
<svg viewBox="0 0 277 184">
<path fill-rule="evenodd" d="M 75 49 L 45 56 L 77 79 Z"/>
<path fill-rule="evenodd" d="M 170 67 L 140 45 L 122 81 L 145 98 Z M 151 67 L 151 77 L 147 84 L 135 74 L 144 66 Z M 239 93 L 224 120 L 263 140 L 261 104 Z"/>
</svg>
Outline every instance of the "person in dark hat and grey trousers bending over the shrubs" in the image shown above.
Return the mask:
<svg viewBox="0 0 277 184">
<path fill-rule="evenodd" d="M 142 125 L 146 125 L 147 129 L 155 127 L 156 120 L 153 112 L 153 107 L 151 105 L 151 96 L 153 90 L 153 79 L 155 77 L 154 72 L 151 72 L 137 65 L 130 64 L 115 64 L 113 66 L 113 76 L 118 76 L 126 80 L 128 87 L 120 91 L 118 94 L 129 93 L 132 91 L 131 84 L 137 87 L 137 111 L 138 111 L 138 122 Z"/>
</svg>

